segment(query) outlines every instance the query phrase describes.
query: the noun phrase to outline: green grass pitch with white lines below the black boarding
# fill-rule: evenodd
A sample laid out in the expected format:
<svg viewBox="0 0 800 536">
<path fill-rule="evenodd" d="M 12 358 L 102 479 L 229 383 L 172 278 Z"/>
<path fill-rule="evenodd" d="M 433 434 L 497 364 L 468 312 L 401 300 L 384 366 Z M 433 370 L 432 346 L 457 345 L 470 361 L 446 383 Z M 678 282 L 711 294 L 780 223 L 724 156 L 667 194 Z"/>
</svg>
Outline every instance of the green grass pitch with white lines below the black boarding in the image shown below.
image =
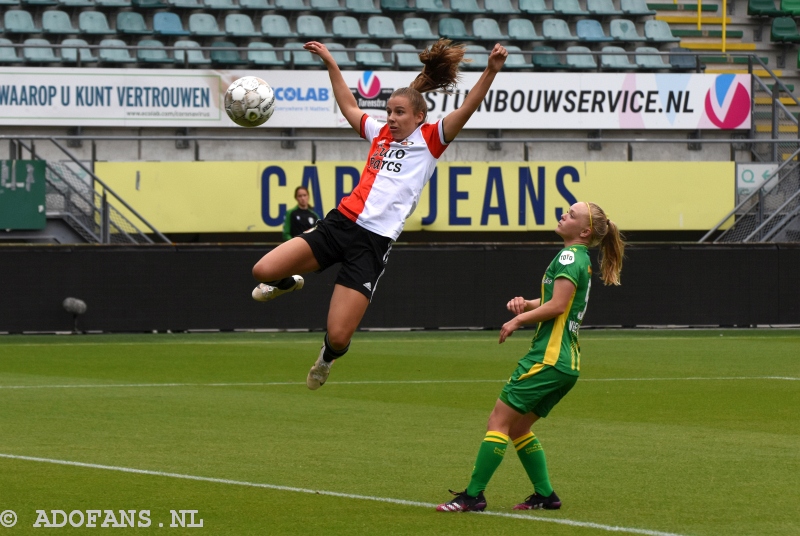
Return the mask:
<svg viewBox="0 0 800 536">
<path fill-rule="evenodd" d="M 150 511 L 115 534 L 800 534 L 791 330 L 584 331 L 535 427 L 562 509 L 511 510 L 531 486 L 509 449 L 490 515 L 433 511 L 531 333 L 358 333 L 316 392 L 319 333 L 0 337 L 0 536 L 107 509 Z"/>
</svg>

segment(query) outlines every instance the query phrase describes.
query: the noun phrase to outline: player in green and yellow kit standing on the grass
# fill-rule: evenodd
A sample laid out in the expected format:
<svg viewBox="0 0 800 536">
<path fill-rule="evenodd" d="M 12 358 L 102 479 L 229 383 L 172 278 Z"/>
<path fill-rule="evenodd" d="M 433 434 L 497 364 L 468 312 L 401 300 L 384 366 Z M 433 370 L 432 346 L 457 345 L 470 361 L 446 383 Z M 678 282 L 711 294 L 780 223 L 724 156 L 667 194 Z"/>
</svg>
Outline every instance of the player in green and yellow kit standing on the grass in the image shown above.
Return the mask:
<svg viewBox="0 0 800 536">
<path fill-rule="evenodd" d="M 436 507 L 441 512 L 481 511 L 483 491 L 503 461 L 512 441 L 534 492 L 515 510 L 561 507 L 547 474 L 544 451 L 531 426 L 550 410 L 578 381 L 581 366 L 578 329 L 589 302 L 592 265 L 589 247 L 600 245 L 600 278 L 619 285 L 625 243 L 617 226 L 594 203 L 575 203 L 556 228 L 564 248 L 542 278 L 541 298 L 521 297 L 508 302 L 516 314 L 500 330 L 500 343 L 528 324 L 538 324 L 531 348 L 511 375 L 489 416 L 486 436 L 478 450 L 469 486 L 452 492 L 455 499 Z"/>
</svg>

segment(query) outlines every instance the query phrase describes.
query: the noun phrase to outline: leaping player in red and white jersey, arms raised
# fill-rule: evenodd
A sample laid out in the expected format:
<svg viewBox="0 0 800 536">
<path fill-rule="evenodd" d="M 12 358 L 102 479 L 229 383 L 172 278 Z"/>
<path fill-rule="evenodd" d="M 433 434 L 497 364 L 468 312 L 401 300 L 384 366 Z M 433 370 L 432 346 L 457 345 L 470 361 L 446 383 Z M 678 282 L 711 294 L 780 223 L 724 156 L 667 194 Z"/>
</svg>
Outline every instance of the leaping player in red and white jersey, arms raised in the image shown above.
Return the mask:
<svg viewBox="0 0 800 536">
<path fill-rule="evenodd" d="M 389 97 L 387 123 L 381 124 L 358 107 L 325 45 L 311 41 L 305 49 L 325 62 L 342 115 L 371 143 L 361 179 L 339 207 L 314 229 L 276 247 L 253 267 L 253 276 L 262 281 L 253 290 L 253 299 L 269 301 L 303 288 L 303 278 L 294 274 L 342 263 L 328 309 L 325 340 L 306 378 L 309 389 L 318 389 L 327 380 L 333 361 L 347 352 L 383 275 L 392 243 L 416 208 L 437 159 L 483 102 L 508 52 L 495 45 L 486 70 L 461 107 L 429 124 L 425 122 L 428 106 L 423 93 L 454 89 L 464 57 L 463 45 L 439 40 L 420 54 L 422 73 L 409 87 Z"/>
</svg>

